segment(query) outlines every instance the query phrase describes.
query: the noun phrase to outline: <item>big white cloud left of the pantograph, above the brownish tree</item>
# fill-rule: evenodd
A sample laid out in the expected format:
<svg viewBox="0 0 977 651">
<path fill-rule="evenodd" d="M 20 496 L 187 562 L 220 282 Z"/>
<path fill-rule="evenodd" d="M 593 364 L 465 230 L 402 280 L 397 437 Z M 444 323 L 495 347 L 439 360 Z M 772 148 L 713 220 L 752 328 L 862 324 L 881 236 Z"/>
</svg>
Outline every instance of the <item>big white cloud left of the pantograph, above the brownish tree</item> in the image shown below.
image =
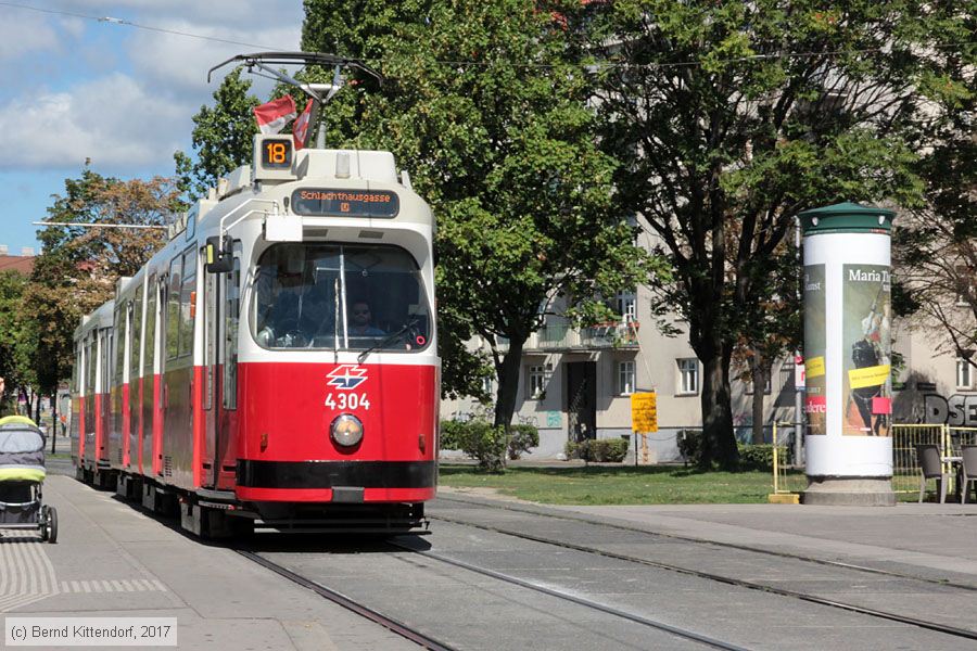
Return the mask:
<svg viewBox="0 0 977 651">
<path fill-rule="evenodd" d="M 188 106 L 160 102 L 131 78 L 112 74 L 0 106 L 0 151 L 17 152 L 0 167 L 101 169 L 165 166 L 189 132 Z"/>
</svg>

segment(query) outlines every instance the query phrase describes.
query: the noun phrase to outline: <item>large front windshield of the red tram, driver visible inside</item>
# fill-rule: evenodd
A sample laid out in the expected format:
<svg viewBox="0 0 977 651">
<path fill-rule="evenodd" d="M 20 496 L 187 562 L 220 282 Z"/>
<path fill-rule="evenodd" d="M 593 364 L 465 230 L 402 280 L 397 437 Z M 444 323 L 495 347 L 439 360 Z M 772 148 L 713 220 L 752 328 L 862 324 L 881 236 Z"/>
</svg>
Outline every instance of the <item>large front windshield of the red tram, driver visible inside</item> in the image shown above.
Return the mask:
<svg viewBox="0 0 977 651">
<path fill-rule="evenodd" d="M 403 248 L 276 244 L 254 282 L 250 320 L 265 348 L 415 352 L 430 339 L 421 272 Z"/>
</svg>

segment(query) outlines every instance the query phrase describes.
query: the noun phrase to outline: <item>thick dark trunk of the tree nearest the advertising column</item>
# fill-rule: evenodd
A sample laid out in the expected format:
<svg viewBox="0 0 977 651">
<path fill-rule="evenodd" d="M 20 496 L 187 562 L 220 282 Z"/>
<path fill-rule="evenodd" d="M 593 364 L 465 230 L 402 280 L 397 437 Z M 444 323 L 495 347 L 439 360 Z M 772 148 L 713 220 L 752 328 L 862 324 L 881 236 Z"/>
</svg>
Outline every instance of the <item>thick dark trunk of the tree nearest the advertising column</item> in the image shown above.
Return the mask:
<svg viewBox="0 0 977 651">
<path fill-rule="evenodd" d="M 729 400 L 729 355 L 718 353 L 702 360 L 702 468 L 723 470 L 739 465 L 733 408 Z"/>
</svg>

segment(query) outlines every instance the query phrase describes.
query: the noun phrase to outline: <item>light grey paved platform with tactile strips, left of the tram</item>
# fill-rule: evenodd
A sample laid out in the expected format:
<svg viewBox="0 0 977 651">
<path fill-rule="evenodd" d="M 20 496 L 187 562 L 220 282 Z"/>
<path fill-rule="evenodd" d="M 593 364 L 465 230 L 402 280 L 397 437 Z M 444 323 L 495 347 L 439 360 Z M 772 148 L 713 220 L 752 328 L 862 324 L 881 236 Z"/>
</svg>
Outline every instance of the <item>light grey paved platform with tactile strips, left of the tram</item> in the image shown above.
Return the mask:
<svg viewBox="0 0 977 651">
<path fill-rule="evenodd" d="M 56 545 L 0 534 L 0 620 L 177 617 L 180 649 L 417 648 L 111 493 L 54 474 L 45 501 L 58 508 Z"/>
</svg>

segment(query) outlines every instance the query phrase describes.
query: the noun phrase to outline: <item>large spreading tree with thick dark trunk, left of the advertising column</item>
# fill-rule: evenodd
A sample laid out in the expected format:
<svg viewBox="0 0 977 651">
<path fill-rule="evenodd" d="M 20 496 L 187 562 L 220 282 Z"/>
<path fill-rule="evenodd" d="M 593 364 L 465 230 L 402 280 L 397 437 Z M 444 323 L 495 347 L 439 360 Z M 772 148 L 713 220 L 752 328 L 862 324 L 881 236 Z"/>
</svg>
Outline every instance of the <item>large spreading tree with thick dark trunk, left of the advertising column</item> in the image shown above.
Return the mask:
<svg viewBox="0 0 977 651">
<path fill-rule="evenodd" d="M 702 464 L 734 467 L 731 356 L 770 297 L 794 216 L 839 201 L 918 204 L 926 80 L 944 74 L 951 43 L 970 39 L 967 11 L 908 0 L 592 7 L 589 38 L 609 43 L 597 81 L 602 144 L 623 162 L 620 206 L 642 216 L 675 270 L 659 289 L 705 368 Z"/>
</svg>

